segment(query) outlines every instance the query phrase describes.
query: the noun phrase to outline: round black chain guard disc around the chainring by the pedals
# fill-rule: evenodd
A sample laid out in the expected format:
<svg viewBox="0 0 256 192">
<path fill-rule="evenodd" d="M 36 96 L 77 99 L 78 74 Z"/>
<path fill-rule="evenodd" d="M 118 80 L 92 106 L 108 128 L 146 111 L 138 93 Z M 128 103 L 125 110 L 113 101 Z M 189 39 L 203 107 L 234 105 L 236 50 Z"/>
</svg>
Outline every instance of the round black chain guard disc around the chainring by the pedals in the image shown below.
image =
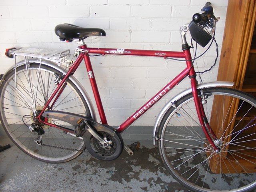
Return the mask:
<svg viewBox="0 0 256 192">
<path fill-rule="evenodd" d="M 123 151 L 124 142 L 116 129 L 93 121 L 89 121 L 88 124 L 90 124 L 98 135 L 110 143 L 109 146 L 104 147 L 100 141 L 87 130 L 82 138 L 88 152 L 100 160 L 110 161 L 118 158 Z"/>
</svg>

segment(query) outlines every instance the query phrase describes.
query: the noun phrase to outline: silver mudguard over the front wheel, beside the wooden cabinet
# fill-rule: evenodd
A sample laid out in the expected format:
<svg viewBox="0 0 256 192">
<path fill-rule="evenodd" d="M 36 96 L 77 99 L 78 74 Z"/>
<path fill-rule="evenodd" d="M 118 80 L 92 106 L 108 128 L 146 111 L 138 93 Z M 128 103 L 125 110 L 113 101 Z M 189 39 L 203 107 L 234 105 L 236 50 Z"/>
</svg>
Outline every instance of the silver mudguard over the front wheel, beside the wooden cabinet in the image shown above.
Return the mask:
<svg viewBox="0 0 256 192">
<path fill-rule="evenodd" d="M 234 85 L 234 82 L 226 82 L 226 81 L 216 81 L 216 82 L 209 82 L 209 83 L 203 83 L 203 84 L 198 84 L 197 89 L 201 89 L 201 88 L 207 88 L 207 87 L 216 87 L 216 86 L 229 86 L 232 87 Z M 183 92 L 177 94 L 174 98 L 172 98 L 165 106 L 164 108 L 162 108 L 162 110 L 160 111 L 160 113 L 158 114 L 157 118 L 156 118 L 156 122 L 154 124 L 154 128 L 153 128 L 153 144 L 155 145 L 155 136 L 156 136 L 156 130 L 158 127 L 158 124 L 160 122 L 160 120 L 162 119 L 163 115 L 165 114 L 165 112 L 172 106 L 172 104 L 177 101 L 178 99 L 182 98 L 184 95 L 191 93 L 192 92 L 192 88 L 188 88 L 186 90 L 184 90 Z"/>
</svg>

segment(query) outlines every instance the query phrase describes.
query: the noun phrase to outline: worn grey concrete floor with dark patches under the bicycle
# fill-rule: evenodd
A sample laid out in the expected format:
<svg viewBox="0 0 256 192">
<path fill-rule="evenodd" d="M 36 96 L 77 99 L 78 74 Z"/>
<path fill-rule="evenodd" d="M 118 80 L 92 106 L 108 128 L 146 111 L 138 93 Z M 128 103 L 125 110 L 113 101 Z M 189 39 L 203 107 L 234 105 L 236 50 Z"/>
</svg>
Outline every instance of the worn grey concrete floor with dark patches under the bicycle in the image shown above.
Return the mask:
<svg viewBox="0 0 256 192">
<path fill-rule="evenodd" d="M 126 144 L 131 144 L 129 140 Z M 11 148 L 0 152 L 1 192 L 187 192 L 164 168 L 152 140 L 140 141 L 140 150 L 129 156 L 123 152 L 111 162 L 83 153 L 62 164 L 40 162 L 19 150 L 9 138 L 0 145 Z"/>
</svg>

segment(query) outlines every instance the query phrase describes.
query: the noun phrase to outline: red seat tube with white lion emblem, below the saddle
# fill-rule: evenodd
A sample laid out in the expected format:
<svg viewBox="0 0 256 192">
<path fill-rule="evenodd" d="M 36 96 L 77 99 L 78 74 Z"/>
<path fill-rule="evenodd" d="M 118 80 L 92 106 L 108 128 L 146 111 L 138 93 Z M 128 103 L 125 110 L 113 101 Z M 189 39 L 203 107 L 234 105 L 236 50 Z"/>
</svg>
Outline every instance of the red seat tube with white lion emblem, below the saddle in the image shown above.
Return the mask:
<svg viewBox="0 0 256 192">
<path fill-rule="evenodd" d="M 100 93 L 99 93 L 99 90 L 98 90 L 98 86 L 97 86 L 97 83 L 96 83 L 94 72 L 92 70 L 92 64 L 91 64 L 91 61 L 90 61 L 90 57 L 89 57 L 88 54 L 84 54 L 84 62 L 85 62 L 86 69 L 87 69 L 87 72 L 88 72 L 88 76 L 89 76 L 89 79 L 90 79 L 90 83 L 91 83 L 91 86 L 92 86 L 92 92 L 94 94 L 94 98 L 95 98 L 95 101 L 96 101 L 98 112 L 100 114 L 101 123 L 102 124 L 108 124 L 107 120 L 106 120 L 106 115 L 105 115 L 105 112 L 104 112 L 104 109 L 103 109 L 103 106 L 102 106 L 102 101 L 100 99 Z"/>
</svg>

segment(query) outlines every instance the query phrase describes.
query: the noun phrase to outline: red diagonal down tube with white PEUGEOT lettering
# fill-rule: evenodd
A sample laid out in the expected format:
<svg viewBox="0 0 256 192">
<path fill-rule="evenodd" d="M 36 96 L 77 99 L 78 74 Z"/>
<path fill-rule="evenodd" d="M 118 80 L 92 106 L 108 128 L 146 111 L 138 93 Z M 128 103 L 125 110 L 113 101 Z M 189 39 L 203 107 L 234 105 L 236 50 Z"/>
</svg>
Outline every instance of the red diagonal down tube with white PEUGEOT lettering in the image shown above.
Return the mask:
<svg viewBox="0 0 256 192">
<path fill-rule="evenodd" d="M 136 121 L 142 114 L 149 110 L 154 104 L 156 104 L 166 93 L 168 93 L 174 86 L 176 86 L 183 78 L 188 76 L 189 68 L 184 69 L 176 78 L 169 82 L 162 90 L 160 90 L 154 97 L 152 97 L 146 104 L 138 109 L 132 116 L 130 116 L 125 122 L 118 127 L 118 132 L 123 132 L 128 126 Z"/>
</svg>

